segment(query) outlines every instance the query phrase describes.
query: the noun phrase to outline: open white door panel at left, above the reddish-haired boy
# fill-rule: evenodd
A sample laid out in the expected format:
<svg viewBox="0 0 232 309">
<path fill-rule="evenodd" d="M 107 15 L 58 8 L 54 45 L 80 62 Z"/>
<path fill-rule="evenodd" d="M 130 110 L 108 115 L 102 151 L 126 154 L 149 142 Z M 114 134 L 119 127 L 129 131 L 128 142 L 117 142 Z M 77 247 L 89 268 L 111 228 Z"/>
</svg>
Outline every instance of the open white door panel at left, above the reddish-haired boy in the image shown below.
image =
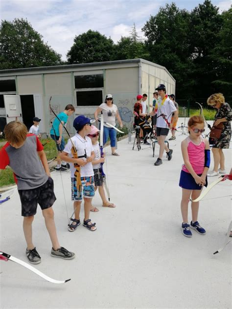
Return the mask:
<svg viewBox="0 0 232 309">
<path fill-rule="evenodd" d="M 23 122 L 20 96 L 15 94 L 3 94 L 6 123 L 19 120 Z"/>
</svg>

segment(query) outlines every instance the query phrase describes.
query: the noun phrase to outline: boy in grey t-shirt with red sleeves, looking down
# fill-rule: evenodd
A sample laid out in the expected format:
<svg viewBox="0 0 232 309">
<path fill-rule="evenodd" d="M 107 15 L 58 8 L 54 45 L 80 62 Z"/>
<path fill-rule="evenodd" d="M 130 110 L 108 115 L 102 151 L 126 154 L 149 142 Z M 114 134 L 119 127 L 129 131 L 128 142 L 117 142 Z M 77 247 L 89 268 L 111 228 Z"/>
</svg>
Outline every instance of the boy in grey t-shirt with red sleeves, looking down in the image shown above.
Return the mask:
<svg viewBox="0 0 232 309">
<path fill-rule="evenodd" d="M 58 242 L 52 209 L 56 197 L 43 145 L 36 135 L 27 133 L 26 126 L 20 121 L 8 123 L 4 133 L 8 142 L 0 150 L 0 169 L 9 165 L 14 172 L 22 204 L 23 232 L 29 262 L 41 262 L 41 257 L 32 242 L 32 221 L 38 203 L 51 239 L 51 255 L 66 260 L 73 259 L 75 254 L 61 247 Z"/>
</svg>

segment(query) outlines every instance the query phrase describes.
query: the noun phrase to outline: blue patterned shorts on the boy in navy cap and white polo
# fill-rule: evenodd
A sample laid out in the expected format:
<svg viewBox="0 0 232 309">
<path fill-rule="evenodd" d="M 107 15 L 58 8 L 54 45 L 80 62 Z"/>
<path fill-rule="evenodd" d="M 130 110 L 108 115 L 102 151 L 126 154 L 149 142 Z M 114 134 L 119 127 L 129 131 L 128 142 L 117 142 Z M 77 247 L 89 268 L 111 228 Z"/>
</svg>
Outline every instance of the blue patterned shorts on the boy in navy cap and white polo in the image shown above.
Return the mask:
<svg viewBox="0 0 232 309">
<path fill-rule="evenodd" d="M 94 177 L 81 177 L 81 188 L 77 188 L 76 178 L 71 177 L 71 199 L 82 200 L 82 193 L 84 198 L 92 199 L 94 197 Z"/>
</svg>

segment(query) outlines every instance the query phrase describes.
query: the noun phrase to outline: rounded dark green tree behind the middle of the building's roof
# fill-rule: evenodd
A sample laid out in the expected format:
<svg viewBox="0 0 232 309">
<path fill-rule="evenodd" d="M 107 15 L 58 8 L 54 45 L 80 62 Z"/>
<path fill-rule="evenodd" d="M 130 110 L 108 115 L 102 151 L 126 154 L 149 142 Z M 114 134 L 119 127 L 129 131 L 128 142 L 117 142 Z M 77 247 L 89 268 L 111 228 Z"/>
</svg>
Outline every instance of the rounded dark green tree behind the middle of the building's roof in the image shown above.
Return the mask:
<svg viewBox="0 0 232 309">
<path fill-rule="evenodd" d="M 74 38 L 67 54 L 69 64 L 114 60 L 115 46 L 111 39 L 98 31 L 88 30 Z"/>
</svg>

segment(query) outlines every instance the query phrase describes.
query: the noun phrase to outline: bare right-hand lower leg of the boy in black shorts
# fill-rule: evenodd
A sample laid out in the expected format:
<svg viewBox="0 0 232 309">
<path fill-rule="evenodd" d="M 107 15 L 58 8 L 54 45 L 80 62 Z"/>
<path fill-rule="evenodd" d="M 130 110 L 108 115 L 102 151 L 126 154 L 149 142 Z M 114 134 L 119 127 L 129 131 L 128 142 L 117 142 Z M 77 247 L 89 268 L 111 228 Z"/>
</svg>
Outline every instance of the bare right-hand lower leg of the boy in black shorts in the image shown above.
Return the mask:
<svg viewBox="0 0 232 309">
<path fill-rule="evenodd" d="M 50 240 L 52 243 L 52 248 L 57 250 L 60 248 L 60 244 L 58 242 L 57 234 L 56 234 L 56 226 L 54 221 L 54 212 L 52 207 L 42 210 L 43 216 L 45 218 L 46 229 L 50 236 Z"/>
</svg>

